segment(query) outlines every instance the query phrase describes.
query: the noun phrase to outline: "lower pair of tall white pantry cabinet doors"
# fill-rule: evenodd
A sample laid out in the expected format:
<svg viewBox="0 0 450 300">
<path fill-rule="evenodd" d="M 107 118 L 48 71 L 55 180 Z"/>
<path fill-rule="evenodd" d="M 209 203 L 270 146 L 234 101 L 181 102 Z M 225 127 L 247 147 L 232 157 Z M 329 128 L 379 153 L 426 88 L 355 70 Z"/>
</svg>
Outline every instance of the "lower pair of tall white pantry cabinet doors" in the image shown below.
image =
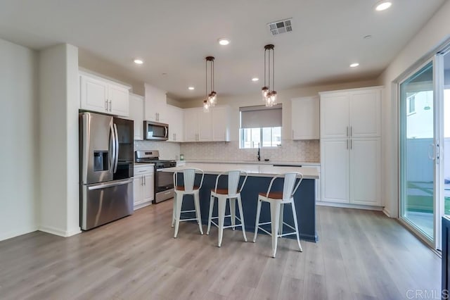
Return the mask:
<svg viewBox="0 0 450 300">
<path fill-rule="evenodd" d="M 322 201 L 381 206 L 379 137 L 321 139 Z"/>
</svg>

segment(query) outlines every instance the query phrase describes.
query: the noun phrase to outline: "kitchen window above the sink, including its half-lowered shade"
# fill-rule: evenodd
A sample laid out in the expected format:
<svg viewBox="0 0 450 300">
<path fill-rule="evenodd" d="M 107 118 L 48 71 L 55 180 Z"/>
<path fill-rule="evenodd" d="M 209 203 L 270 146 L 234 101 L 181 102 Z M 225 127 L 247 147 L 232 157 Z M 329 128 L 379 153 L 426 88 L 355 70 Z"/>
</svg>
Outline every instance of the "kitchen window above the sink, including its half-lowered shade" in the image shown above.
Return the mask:
<svg viewBox="0 0 450 300">
<path fill-rule="evenodd" d="M 240 108 L 240 149 L 281 146 L 281 104 Z"/>
</svg>

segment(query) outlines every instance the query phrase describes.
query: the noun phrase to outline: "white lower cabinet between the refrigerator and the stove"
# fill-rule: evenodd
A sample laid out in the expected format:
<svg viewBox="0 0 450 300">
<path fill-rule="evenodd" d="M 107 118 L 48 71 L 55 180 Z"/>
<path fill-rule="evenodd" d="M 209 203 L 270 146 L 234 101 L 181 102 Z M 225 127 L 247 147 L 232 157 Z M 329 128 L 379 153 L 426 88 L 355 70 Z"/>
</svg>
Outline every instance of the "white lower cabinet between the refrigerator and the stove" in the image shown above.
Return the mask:
<svg viewBox="0 0 450 300">
<path fill-rule="evenodd" d="M 153 165 L 135 165 L 134 166 L 134 210 L 148 206 L 155 199 Z"/>
</svg>

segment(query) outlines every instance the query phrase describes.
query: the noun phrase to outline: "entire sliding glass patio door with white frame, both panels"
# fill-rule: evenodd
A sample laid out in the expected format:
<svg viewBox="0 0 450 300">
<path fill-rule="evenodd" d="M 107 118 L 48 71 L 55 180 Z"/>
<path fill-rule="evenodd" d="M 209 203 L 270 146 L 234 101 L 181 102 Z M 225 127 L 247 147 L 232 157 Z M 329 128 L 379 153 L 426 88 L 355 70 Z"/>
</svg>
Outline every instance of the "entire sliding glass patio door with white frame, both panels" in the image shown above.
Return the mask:
<svg viewBox="0 0 450 300">
<path fill-rule="evenodd" d="M 400 82 L 399 100 L 400 219 L 441 249 L 441 217 L 450 215 L 450 51 Z"/>
</svg>

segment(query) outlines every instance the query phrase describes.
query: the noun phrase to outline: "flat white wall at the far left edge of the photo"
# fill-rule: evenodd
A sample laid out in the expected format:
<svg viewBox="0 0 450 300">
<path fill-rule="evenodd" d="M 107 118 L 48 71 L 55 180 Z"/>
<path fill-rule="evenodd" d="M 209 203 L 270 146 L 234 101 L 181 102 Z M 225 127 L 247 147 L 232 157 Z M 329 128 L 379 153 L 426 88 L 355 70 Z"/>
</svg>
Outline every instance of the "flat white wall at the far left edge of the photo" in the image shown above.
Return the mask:
<svg viewBox="0 0 450 300">
<path fill-rule="evenodd" d="M 0 39 L 0 240 L 37 230 L 37 54 Z"/>
</svg>

